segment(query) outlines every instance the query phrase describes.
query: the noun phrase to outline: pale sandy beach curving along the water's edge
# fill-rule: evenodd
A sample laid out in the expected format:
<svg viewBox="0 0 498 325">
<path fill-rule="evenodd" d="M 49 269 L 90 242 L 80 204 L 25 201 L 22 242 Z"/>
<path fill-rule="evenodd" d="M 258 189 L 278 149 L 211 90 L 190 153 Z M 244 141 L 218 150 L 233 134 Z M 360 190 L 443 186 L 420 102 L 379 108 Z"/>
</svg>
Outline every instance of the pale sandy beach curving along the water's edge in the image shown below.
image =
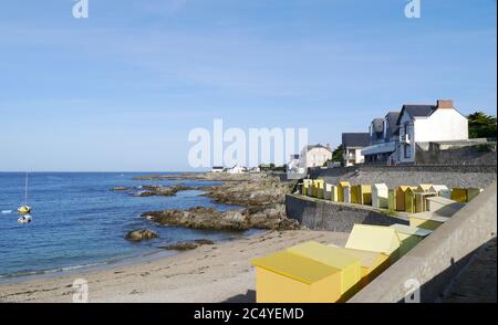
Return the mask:
<svg viewBox="0 0 498 325">
<path fill-rule="evenodd" d="M 76 279 L 87 281 L 92 303 L 255 302 L 251 259 L 309 240 L 343 245 L 346 239 L 338 232 L 267 231 L 135 265 L 0 284 L 0 302 L 71 303 Z"/>
</svg>

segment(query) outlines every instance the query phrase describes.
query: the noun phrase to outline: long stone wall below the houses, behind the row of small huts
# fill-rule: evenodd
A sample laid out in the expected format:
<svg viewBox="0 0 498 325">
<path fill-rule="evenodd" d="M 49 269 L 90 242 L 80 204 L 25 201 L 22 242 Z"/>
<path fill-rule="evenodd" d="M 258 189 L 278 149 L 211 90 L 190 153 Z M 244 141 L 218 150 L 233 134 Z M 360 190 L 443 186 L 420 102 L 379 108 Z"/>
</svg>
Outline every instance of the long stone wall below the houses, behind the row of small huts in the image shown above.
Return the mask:
<svg viewBox="0 0 498 325">
<path fill-rule="evenodd" d="M 340 180 L 352 185 L 385 182 L 400 185 L 440 184 L 448 187 L 486 188 L 496 180 L 495 166 L 355 166 L 347 168 L 310 169 L 312 178 L 326 182 Z"/>
</svg>

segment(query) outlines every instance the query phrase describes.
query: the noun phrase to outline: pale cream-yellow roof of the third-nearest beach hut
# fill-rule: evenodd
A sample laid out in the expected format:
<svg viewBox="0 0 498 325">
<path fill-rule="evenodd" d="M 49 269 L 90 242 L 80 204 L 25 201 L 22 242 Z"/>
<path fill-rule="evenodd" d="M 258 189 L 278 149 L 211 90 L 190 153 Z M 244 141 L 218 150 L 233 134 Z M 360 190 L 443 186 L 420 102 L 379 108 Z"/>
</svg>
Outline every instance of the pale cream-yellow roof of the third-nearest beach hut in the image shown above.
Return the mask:
<svg viewBox="0 0 498 325">
<path fill-rule="evenodd" d="M 401 240 L 394 228 L 354 224 L 345 248 L 392 254 L 400 244 Z"/>
</svg>

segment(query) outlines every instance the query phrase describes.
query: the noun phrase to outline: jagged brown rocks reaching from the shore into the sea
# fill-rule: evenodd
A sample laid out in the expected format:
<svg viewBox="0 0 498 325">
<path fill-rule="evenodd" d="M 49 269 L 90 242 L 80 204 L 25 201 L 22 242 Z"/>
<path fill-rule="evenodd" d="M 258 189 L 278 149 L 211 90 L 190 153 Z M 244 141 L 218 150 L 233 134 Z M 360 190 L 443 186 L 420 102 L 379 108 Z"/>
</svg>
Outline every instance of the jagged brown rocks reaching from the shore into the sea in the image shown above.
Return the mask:
<svg viewBox="0 0 498 325">
<path fill-rule="evenodd" d="M 219 186 L 147 186 L 141 196 L 174 196 L 181 190 L 203 190 L 204 196 L 217 203 L 238 206 L 242 209 L 218 211 L 196 207 L 188 210 L 147 211 L 142 217 L 160 226 L 179 226 L 204 230 L 243 231 L 248 229 L 298 230 L 298 221 L 286 216 L 284 198 L 294 188 L 294 182 L 280 181 L 264 174 L 179 174 L 153 175 L 135 180 L 198 180 L 222 181 Z"/>
</svg>

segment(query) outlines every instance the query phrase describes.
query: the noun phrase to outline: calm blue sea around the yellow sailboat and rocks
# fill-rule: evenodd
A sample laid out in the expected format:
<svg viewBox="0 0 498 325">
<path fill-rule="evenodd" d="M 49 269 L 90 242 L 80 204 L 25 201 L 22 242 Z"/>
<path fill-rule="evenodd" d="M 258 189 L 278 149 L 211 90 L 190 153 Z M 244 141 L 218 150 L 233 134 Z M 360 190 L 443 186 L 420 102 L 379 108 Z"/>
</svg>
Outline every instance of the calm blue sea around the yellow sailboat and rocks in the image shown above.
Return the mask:
<svg viewBox="0 0 498 325">
<path fill-rule="evenodd" d="M 30 174 L 28 203 L 33 222 L 19 224 L 17 208 L 24 201 L 24 174 L 0 172 L 0 279 L 113 263 L 158 252 L 158 245 L 193 239 L 230 240 L 247 232 L 199 231 L 158 227 L 142 212 L 212 203 L 200 191 L 176 197 L 134 197 L 142 185 L 216 185 L 205 181 L 136 181 L 146 174 Z M 117 186 L 132 192 L 113 192 Z M 2 211 L 12 210 L 11 213 Z M 126 232 L 153 229 L 159 239 L 141 243 L 124 240 Z"/>
</svg>

